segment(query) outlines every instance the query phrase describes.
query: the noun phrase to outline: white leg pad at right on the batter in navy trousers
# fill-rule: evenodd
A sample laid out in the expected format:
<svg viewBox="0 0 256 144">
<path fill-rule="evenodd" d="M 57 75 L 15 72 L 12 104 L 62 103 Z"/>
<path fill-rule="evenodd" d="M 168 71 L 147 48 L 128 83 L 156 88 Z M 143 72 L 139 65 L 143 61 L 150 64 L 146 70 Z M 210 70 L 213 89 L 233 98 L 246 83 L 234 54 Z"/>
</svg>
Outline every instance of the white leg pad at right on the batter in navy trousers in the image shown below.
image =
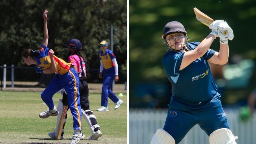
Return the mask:
<svg viewBox="0 0 256 144">
<path fill-rule="evenodd" d="M 209 136 L 210 144 L 236 144 L 236 139 L 230 129 L 222 128 L 213 131 Z"/>
</svg>

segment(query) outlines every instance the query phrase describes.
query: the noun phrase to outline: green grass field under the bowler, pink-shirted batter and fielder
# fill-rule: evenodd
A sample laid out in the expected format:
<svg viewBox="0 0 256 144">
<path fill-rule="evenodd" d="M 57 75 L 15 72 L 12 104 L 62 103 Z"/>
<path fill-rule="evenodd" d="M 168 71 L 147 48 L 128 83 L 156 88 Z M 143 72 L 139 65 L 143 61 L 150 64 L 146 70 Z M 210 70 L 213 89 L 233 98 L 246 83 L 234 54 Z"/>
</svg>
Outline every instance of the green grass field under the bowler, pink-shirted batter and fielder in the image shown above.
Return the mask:
<svg viewBox="0 0 256 144">
<path fill-rule="evenodd" d="M 58 105 L 61 94 L 53 97 Z M 82 132 L 85 135 L 79 144 L 126 144 L 127 143 L 127 95 L 120 97 L 124 103 L 114 110 L 115 104 L 109 99 L 108 112 L 98 112 L 100 94 L 89 94 L 90 109 L 97 117 L 103 135 L 98 140 L 88 140 L 91 130 L 82 118 Z M 64 140 L 53 140 L 48 136 L 56 126 L 56 116 L 39 118 L 39 113 L 48 109 L 41 100 L 40 92 L 0 91 L 0 144 L 52 144 L 68 143 L 73 134 L 73 119 L 68 111 Z"/>
</svg>

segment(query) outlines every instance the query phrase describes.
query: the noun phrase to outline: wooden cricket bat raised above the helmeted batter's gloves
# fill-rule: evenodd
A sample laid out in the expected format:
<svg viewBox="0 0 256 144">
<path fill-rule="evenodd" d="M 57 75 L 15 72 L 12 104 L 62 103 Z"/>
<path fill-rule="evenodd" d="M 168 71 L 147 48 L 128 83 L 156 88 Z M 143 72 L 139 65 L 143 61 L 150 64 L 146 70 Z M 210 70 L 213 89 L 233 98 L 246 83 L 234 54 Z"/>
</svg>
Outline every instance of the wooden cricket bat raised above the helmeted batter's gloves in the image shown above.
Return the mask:
<svg viewBox="0 0 256 144">
<path fill-rule="evenodd" d="M 196 14 L 197 20 L 202 22 L 206 26 L 210 26 L 210 24 L 214 21 L 212 18 L 208 17 L 208 15 L 204 14 L 202 11 L 199 11 L 197 7 L 194 8 L 194 12 Z M 223 31 L 223 35 L 226 35 L 227 31 Z"/>
</svg>

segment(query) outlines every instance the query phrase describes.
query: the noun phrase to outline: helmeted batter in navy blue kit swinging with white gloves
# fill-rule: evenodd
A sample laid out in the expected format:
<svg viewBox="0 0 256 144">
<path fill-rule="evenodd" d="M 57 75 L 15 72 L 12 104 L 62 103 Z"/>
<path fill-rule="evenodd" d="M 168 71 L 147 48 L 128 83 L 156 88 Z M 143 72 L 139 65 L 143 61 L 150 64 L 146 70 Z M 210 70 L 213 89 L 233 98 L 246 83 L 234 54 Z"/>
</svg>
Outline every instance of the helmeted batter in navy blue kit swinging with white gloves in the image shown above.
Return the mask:
<svg viewBox="0 0 256 144">
<path fill-rule="evenodd" d="M 209 136 L 210 144 L 236 144 L 236 139 L 221 105 L 221 95 L 208 63 L 224 65 L 228 61 L 228 40 L 233 31 L 223 20 L 215 20 L 211 33 L 201 42 L 188 42 L 180 22 L 172 21 L 163 29 L 168 48 L 162 64 L 172 84 L 171 102 L 163 129 L 158 129 L 151 144 L 178 144 L 196 124 Z M 223 32 L 225 31 L 225 34 Z M 210 49 L 220 38 L 219 52 Z"/>
</svg>

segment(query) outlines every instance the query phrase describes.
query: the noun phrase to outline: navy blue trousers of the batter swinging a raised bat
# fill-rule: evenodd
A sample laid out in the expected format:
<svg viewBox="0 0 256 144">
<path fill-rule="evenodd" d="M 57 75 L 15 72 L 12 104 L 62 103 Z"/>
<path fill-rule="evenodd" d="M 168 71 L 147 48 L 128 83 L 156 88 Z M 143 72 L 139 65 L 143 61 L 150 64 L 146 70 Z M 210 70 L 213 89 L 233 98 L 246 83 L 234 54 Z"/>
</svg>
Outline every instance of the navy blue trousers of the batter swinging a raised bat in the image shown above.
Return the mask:
<svg viewBox="0 0 256 144">
<path fill-rule="evenodd" d="M 209 102 L 198 106 L 189 106 L 171 98 L 169 111 L 163 129 L 178 144 L 187 132 L 196 124 L 209 136 L 221 128 L 230 129 L 226 114 L 221 105 L 220 94 L 216 94 Z"/>
</svg>

